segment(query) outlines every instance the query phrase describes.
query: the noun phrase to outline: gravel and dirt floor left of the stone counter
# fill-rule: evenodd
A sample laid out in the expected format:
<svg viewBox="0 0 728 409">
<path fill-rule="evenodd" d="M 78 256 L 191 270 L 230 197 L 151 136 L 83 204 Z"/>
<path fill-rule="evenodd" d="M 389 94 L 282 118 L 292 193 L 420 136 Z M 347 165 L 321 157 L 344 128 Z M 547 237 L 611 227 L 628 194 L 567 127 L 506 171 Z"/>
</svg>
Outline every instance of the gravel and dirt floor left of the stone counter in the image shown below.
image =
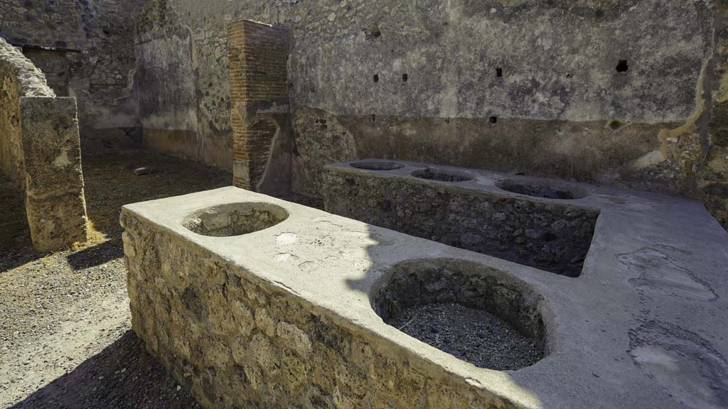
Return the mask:
<svg viewBox="0 0 728 409">
<path fill-rule="evenodd" d="M 156 172 L 135 175 L 141 166 Z M 232 177 L 146 152 L 84 157 L 83 167 L 95 233 L 50 255 L 32 250 L 22 195 L 0 180 L 0 408 L 198 408 L 130 330 L 119 208 Z"/>
</svg>

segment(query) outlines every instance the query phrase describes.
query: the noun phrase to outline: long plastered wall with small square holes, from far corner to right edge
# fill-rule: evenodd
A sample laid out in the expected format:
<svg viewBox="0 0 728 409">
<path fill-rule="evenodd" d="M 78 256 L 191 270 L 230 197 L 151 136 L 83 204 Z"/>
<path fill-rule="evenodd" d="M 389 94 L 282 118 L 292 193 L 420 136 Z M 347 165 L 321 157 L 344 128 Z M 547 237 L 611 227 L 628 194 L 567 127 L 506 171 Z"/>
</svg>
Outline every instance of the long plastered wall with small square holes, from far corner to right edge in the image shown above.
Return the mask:
<svg viewBox="0 0 728 409">
<path fill-rule="evenodd" d="M 699 121 L 718 4 L 149 0 L 142 122 L 232 168 L 226 28 L 245 18 L 290 28 L 298 193 L 320 194 L 325 164 L 365 157 L 720 193 L 690 175 L 710 156 L 711 180 L 728 180 Z"/>
</svg>

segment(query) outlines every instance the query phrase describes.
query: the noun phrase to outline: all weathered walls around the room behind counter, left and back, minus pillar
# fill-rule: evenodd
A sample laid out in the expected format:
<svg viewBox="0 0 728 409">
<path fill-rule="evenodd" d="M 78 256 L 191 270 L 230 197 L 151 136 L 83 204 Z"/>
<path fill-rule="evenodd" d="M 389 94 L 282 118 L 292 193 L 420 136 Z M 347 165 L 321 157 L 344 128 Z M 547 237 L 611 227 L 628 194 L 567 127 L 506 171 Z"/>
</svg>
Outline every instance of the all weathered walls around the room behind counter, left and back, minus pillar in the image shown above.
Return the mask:
<svg viewBox="0 0 728 409">
<path fill-rule="evenodd" d="M 76 97 L 87 152 L 143 143 L 309 196 L 365 157 L 525 172 L 692 196 L 728 226 L 724 3 L 9 0 L 0 36 Z M 290 33 L 288 108 L 248 126 L 253 158 L 277 129 L 265 165 L 232 154 L 241 19 Z"/>
</svg>

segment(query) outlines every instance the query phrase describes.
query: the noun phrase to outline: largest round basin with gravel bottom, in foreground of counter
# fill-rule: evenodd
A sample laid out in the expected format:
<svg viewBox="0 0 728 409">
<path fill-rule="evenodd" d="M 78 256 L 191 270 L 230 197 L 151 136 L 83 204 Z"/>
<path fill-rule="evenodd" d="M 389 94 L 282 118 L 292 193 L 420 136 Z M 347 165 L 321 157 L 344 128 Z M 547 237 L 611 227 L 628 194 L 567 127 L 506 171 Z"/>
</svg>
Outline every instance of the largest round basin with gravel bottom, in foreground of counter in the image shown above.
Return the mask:
<svg viewBox="0 0 728 409">
<path fill-rule="evenodd" d="M 371 301 L 388 325 L 479 368 L 525 368 L 546 353 L 542 296 L 479 263 L 398 263 L 376 283 Z"/>
</svg>

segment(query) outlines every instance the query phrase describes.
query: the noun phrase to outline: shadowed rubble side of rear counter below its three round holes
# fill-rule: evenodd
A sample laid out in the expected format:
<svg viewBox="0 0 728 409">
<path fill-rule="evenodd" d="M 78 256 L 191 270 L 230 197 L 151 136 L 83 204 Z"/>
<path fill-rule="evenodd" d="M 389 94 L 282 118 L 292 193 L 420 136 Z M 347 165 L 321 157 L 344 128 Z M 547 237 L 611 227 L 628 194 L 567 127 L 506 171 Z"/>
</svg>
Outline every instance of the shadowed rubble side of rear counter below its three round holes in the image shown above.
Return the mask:
<svg viewBox="0 0 728 409">
<path fill-rule="evenodd" d="M 407 167 L 404 178 L 384 178 L 356 167 L 328 167 L 326 210 L 557 274 L 581 274 L 597 210 L 462 189 L 459 183 L 474 175 L 418 169 Z"/>
</svg>

